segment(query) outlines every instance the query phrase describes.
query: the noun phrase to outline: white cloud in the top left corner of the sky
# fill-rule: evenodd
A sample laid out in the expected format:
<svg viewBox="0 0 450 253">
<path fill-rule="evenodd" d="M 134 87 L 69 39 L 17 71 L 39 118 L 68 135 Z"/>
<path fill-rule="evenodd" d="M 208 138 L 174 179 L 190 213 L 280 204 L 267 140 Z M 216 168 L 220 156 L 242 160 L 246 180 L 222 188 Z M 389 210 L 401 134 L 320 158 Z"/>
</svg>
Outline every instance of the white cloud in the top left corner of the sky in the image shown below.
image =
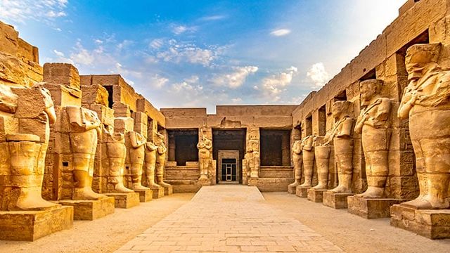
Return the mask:
<svg viewBox="0 0 450 253">
<path fill-rule="evenodd" d="M 0 20 L 19 24 L 26 20 L 49 22 L 65 17 L 67 0 L 1 0 Z"/>
</svg>

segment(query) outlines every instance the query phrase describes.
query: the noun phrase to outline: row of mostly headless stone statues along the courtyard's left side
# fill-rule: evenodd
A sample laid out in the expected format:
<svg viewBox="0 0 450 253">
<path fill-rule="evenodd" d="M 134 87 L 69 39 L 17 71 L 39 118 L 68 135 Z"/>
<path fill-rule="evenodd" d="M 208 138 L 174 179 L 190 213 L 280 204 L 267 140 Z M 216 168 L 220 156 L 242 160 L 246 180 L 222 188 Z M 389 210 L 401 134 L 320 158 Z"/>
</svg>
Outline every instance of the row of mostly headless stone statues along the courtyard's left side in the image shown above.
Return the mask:
<svg viewBox="0 0 450 253">
<path fill-rule="evenodd" d="M 106 192 L 147 190 L 141 181 L 144 163 L 148 186 L 167 186 L 163 181 L 167 152 L 165 136 L 156 133 L 157 141 L 153 143 L 136 131 L 114 132 L 111 127 L 102 124 L 93 110 L 74 105 L 59 110 L 60 119 L 56 119 L 51 92 L 45 84 L 37 84 L 30 89 L 0 84 L 1 210 L 40 210 L 59 206 L 44 200 L 41 195 L 50 124 L 53 123 L 59 124 L 60 132 L 69 136 L 70 147 L 63 148 L 70 150 L 68 164 L 72 165 L 72 173 L 63 176 L 65 181 L 70 181 L 63 183 L 63 188 L 72 188 L 66 189 L 58 200 L 101 200 L 105 197 L 92 190 L 94 160 L 101 134 L 106 136 L 105 157 L 109 164 Z M 126 162 L 130 164 L 131 176 L 131 183 L 127 186 L 124 185 Z"/>
</svg>

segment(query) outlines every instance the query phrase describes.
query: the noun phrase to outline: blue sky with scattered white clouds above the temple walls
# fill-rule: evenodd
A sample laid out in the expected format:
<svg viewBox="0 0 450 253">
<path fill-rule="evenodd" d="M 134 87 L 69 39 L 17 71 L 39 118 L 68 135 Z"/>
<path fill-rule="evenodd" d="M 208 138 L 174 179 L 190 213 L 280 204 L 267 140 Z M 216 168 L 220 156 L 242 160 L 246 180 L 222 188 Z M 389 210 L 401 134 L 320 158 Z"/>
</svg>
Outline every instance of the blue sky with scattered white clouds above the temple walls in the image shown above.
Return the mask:
<svg viewBox="0 0 450 253">
<path fill-rule="evenodd" d="M 297 104 L 405 0 L 0 0 L 40 62 L 122 74 L 157 108 Z"/>
</svg>

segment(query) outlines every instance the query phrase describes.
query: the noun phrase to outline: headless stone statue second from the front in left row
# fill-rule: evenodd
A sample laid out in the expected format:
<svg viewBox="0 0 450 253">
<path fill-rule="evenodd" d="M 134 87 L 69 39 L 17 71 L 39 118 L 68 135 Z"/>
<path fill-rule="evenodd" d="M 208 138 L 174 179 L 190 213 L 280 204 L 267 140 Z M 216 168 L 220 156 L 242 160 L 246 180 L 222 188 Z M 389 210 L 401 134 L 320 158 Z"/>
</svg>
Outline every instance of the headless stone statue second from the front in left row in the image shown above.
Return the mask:
<svg viewBox="0 0 450 253">
<path fill-rule="evenodd" d="M 92 177 L 101 121 L 96 112 L 79 106 L 66 106 L 65 111 L 70 122 L 70 146 L 73 155 L 72 200 L 100 200 L 105 195 L 92 190 Z"/>
</svg>

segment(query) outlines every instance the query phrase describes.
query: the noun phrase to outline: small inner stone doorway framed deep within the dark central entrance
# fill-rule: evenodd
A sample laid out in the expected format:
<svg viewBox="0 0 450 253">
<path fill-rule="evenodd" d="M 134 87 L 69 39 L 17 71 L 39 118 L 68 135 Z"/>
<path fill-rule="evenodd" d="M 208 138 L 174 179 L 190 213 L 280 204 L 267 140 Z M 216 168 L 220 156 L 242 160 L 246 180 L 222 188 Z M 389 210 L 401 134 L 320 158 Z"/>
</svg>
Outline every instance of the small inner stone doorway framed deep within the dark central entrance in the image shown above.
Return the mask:
<svg viewBox="0 0 450 253">
<path fill-rule="evenodd" d="M 219 151 L 218 183 L 239 183 L 239 150 Z"/>
</svg>

